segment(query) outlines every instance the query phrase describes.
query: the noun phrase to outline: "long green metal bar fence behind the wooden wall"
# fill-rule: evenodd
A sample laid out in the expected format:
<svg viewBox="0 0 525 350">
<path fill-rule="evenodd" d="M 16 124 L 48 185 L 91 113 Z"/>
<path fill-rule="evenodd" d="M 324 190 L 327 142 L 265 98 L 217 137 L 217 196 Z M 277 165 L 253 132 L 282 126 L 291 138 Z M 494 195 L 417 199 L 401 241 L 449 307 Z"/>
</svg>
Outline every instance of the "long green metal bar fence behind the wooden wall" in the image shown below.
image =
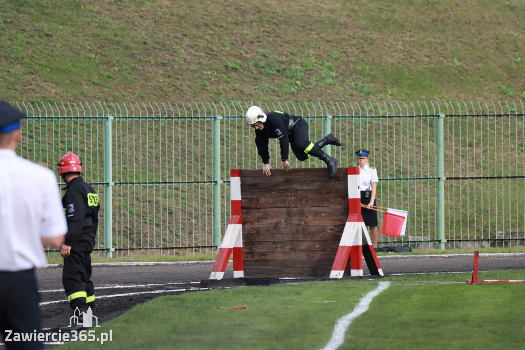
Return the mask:
<svg viewBox="0 0 525 350">
<path fill-rule="evenodd" d="M 408 211 L 407 233 L 379 245 L 523 245 L 525 114 L 512 102 L 254 102 L 303 116 L 339 167 L 371 151 L 378 204 Z M 97 251 L 215 248 L 229 220 L 229 170 L 261 169 L 251 105 L 14 102 L 26 112 L 17 153 L 52 169 L 67 151 L 101 195 Z M 331 148 L 330 148 L 331 147 Z M 280 165 L 277 142 L 271 165 Z M 292 167 L 324 167 L 315 158 Z M 381 217 L 380 227 L 381 227 Z"/>
</svg>

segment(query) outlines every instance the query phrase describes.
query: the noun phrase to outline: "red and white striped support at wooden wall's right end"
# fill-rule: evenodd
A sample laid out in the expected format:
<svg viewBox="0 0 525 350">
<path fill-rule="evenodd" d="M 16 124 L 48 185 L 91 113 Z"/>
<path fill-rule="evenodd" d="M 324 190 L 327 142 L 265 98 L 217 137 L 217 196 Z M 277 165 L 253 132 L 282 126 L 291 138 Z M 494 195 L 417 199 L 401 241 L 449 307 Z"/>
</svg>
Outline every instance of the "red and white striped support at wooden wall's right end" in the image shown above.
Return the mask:
<svg viewBox="0 0 525 350">
<path fill-rule="evenodd" d="M 339 248 L 330 272 L 330 278 L 343 277 L 346 263 L 350 257 L 350 275 L 363 275 L 364 256 L 366 265 L 373 275 L 383 276 L 383 270 L 375 255 L 370 235 L 361 216 L 361 191 L 359 189 L 359 168 L 348 168 L 348 219 L 344 225 Z M 363 244 L 363 235 L 366 244 Z"/>
</svg>

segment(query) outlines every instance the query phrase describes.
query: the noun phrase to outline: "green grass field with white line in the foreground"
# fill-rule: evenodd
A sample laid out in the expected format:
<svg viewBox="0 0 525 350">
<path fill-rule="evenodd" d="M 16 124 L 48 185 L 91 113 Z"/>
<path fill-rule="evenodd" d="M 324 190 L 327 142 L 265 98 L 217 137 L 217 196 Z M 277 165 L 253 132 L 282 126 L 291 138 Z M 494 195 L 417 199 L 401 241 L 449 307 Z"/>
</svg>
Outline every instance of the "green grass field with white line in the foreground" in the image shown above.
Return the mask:
<svg viewBox="0 0 525 350">
<path fill-rule="evenodd" d="M 380 281 L 391 282 L 350 325 L 340 349 L 521 349 L 523 285 L 469 285 L 468 273 L 251 286 L 162 296 L 98 328 L 109 348 L 319 349 L 337 320 Z M 523 280 L 523 271 L 480 279 Z M 219 310 L 246 305 L 244 310 Z M 65 348 L 95 348 L 94 343 Z"/>
</svg>

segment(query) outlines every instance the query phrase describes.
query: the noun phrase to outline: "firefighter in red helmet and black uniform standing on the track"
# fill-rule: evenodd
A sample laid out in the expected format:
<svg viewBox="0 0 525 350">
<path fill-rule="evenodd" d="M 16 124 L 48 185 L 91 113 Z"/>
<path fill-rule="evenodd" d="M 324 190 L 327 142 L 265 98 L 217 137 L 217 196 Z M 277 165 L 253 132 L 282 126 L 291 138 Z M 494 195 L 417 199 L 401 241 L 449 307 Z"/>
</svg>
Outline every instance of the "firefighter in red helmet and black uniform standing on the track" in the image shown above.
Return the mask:
<svg viewBox="0 0 525 350">
<path fill-rule="evenodd" d="M 95 308 L 95 289 L 91 282 L 91 252 L 95 247 L 100 210 L 97 192 L 82 177 L 82 162 L 68 152 L 58 163 L 59 175 L 67 183 L 62 205 L 68 232 L 60 254 L 64 258 L 62 284 L 71 308 L 82 316 Z M 78 311 L 77 311 L 78 307 Z"/>
</svg>

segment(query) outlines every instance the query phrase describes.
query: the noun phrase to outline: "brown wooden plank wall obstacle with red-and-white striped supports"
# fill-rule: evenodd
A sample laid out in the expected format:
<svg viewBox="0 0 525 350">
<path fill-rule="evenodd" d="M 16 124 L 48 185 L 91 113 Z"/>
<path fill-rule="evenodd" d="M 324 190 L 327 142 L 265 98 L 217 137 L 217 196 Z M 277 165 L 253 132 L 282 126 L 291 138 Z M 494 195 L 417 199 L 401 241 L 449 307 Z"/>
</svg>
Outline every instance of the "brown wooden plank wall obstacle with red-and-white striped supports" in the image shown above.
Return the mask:
<svg viewBox="0 0 525 350">
<path fill-rule="evenodd" d="M 232 218 L 211 280 L 224 276 L 230 255 L 234 277 L 383 275 L 361 217 L 359 169 L 232 170 Z M 366 244 L 363 244 L 363 238 Z"/>
</svg>

